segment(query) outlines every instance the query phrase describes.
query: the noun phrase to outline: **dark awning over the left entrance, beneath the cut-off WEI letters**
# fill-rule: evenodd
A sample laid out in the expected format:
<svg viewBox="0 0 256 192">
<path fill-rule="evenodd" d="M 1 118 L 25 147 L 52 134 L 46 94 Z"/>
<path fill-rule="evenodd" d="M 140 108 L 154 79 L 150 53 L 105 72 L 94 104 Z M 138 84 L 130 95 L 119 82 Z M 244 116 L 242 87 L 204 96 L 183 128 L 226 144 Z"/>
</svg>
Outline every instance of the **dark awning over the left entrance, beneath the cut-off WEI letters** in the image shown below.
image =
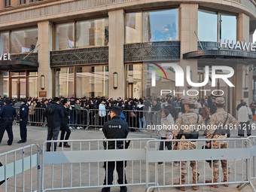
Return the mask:
<svg viewBox="0 0 256 192">
<path fill-rule="evenodd" d="M 0 70 L 26 68 L 38 68 L 38 62 L 31 62 L 23 59 L 0 61 Z"/>
</svg>

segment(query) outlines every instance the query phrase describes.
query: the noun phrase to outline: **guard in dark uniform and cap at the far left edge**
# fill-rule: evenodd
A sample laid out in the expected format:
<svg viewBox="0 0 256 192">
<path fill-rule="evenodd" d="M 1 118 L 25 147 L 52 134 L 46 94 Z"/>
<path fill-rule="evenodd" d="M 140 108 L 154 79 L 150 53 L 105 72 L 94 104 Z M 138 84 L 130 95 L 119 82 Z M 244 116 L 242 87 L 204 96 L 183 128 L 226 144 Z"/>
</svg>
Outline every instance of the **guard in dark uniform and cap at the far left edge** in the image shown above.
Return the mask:
<svg viewBox="0 0 256 192">
<path fill-rule="evenodd" d="M 16 110 L 13 106 L 10 105 L 11 99 L 5 99 L 4 100 L 4 106 L 0 109 L 0 117 L 2 120 L 1 126 L 0 126 L 0 144 L 2 142 L 5 130 L 8 133 L 8 145 L 11 145 L 14 140 L 14 134 L 13 134 L 13 121 L 16 117 Z"/>
</svg>

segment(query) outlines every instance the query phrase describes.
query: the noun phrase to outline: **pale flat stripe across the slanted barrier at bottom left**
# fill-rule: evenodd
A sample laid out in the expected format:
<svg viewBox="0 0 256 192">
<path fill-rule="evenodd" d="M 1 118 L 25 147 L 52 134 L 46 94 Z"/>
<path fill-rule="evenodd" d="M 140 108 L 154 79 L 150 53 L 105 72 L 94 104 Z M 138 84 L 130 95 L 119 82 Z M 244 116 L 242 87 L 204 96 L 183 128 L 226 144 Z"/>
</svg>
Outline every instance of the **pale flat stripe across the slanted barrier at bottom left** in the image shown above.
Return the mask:
<svg viewBox="0 0 256 192">
<path fill-rule="evenodd" d="M 30 157 L 30 156 L 25 157 L 24 162 L 23 162 L 23 159 L 21 159 L 21 160 L 17 160 L 16 162 L 13 162 L 13 163 L 8 163 L 5 166 L 1 166 L 0 167 L 0 181 L 5 180 L 5 169 L 6 169 L 6 177 L 11 178 L 14 176 L 14 167 L 15 167 L 15 175 L 17 175 L 17 174 L 20 174 L 21 172 L 25 172 L 26 170 L 29 170 L 30 168 L 32 168 L 34 166 L 37 166 L 37 163 L 38 163 L 38 155 L 33 154 L 32 157 Z"/>
</svg>

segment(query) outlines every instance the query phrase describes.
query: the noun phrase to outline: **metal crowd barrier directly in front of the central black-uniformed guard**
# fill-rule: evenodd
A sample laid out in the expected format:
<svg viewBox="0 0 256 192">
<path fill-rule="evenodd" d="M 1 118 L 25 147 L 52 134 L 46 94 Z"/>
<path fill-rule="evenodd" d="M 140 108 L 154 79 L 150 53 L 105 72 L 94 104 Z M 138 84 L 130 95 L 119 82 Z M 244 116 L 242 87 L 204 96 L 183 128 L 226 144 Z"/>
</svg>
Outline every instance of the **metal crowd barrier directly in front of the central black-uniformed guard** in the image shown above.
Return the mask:
<svg viewBox="0 0 256 192">
<path fill-rule="evenodd" d="M 146 184 L 146 155 L 145 145 L 152 139 L 90 139 L 69 140 L 71 148 L 60 148 L 60 151 L 45 151 L 45 145 L 53 142 L 47 141 L 42 147 L 41 191 L 70 190 L 94 187 L 117 187 Z M 110 142 L 130 141 L 130 147 L 125 149 L 106 149 Z M 63 145 L 62 145 L 63 146 Z M 126 179 L 128 184 L 117 184 L 117 173 L 111 185 L 103 185 L 105 170 L 104 162 L 127 161 Z M 108 163 L 105 169 L 108 170 Z M 123 168 L 125 167 L 123 163 Z M 129 168 L 128 168 L 129 167 Z M 108 172 L 107 172 L 108 177 Z M 108 181 L 106 181 L 108 183 Z M 124 183 L 124 182 L 123 182 Z"/>
</svg>

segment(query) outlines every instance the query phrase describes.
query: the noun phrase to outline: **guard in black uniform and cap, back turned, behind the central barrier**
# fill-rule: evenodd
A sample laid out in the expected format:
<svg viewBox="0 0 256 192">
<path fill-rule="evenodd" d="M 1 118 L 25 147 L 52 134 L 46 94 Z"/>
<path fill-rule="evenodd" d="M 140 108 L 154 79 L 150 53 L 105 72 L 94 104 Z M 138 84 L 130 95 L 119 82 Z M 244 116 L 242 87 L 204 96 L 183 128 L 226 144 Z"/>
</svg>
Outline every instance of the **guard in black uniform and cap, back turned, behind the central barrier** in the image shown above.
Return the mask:
<svg viewBox="0 0 256 192">
<path fill-rule="evenodd" d="M 113 106 L 111 108 L 110 112 L 110 117 L 111 120 L 108 122 L 104 123 L 103 126 L 103 133 L 105 135 L 106 139 L 126 139 L 128 133 L 129 133 L 129 126 L 128 123 L 124 122 L 123 120 L 120 120 L 120 114 L 121 114 L 122 109 L 118 106 Z M 128 146 L 123 146 L 123 141 L 118 141 L 116 144 L 115 142 L 108 142 L 108 149 L 122 149 L 122 148 L 127 148 Z M 123 166 L 123 163 L 125 165 Z M 117 161 L 117 175 L 118 175 L 118 184 L 126 184 L 126 175 L 123 170 L 123 167 L 126 166 L 126 161 Z M 105 180 L 104 180 L 104 185 L 106 184 L 106 172 L 108 172 L 108 184 L 112 184 L 113 181 L 113 172 L 114 172 L 114 161 L 108 162 L 108 166 L 106 166 L 106 163 L 104 163 L 105 167 Z M 106 170 L 108 168 L 108 170 Z M 123 174 L 124 172 L 124 174 Z M 124 175 L 124 178 L 123 178 Z M 108 192 L 110 191 L 110 187 L 104 187 L 102 188 L 102 192 Z M 127 187 L 123 186 L 120 187 L 120 192 L 126 192 Z"/>
</svg>

